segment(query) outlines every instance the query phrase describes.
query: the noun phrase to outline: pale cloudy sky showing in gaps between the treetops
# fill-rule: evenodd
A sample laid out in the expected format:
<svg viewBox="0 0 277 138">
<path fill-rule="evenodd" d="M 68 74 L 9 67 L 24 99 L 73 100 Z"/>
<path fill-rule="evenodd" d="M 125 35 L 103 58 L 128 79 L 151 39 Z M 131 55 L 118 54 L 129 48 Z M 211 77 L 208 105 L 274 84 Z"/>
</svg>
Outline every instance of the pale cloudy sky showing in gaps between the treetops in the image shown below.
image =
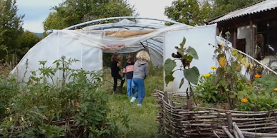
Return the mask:
<svg viewBox="0 0 277 138">
<path fill-rule="evenodd" d="M 129 0 L 135 5 L 140 17 L 167 19 L 163 15 L 164 8 L 170 6 L 173 0 Z M 24 28 L 32 32 L 43 32 L 42 22 L 51 11 L 51 6 L 57 6 L 62 0 L 17 0 L 18 14 L 25 14 Z"/>
</svg>

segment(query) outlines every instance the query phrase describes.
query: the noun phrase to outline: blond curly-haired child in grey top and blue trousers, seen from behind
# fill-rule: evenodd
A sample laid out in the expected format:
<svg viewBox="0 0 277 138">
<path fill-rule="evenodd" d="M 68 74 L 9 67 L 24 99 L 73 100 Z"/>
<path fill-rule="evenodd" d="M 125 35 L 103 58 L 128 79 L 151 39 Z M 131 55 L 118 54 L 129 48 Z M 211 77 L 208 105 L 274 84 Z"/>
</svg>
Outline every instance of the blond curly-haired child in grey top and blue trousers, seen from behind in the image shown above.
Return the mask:
<svg viewBox="0 0 277 138">
<path fill-rule="evenodd" d="M 136 55 L 136 63 L 134 63 L 134 76 L 133 83 L 136 88 L 136 94 L 132 97 L 131 102 L 133 103 L 138 99 L 138 106 L 141 106 L 143 98 L 145 97 L 145 85 L 144 79 L 148 76 L 150 56 L 145 50 L 140 51 Z"/>
</svg>

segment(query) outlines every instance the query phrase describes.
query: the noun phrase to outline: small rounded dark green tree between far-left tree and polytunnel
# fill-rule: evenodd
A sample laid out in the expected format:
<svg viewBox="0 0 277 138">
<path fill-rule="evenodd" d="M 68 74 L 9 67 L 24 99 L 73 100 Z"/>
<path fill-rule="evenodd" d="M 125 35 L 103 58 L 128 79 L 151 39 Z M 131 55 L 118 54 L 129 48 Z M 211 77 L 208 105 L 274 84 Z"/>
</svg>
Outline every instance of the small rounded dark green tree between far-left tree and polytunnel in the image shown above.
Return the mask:
<svg viewBox="0 0 277 138">
<path fill-rule="evenodd" d="M 21 43 L 19 47 L 17 48 L 17 55 L 21 59 L 24 57 L 26 52 L 30 50 L 35 44 L 37 44 L 40 41 L 39 37 L 33 32 L 25 31 L 24 34 L 21 36 Z"/>
</svg>

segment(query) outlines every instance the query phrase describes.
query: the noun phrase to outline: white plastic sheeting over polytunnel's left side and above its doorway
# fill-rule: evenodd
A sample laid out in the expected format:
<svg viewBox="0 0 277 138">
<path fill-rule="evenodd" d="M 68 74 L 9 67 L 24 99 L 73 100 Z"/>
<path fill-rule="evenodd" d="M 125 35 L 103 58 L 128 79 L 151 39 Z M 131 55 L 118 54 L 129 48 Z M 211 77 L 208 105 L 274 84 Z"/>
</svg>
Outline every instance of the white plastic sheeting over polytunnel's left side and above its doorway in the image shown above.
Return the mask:
<svg viewBox="0 0 277 138">
<path fill-rule="evenodd" d="M 11 74 L 27 81 L 30 72 L 40 67 L 39 61 L 47 61 L 45 66 L 55 66 L 53 62 L 62 56 L 66 57 L 65 60 L 71 58 L 80 61 L 73 63 L 70 68 L 98 71 L 102 70 L 103 51 L 134 52 L 143 45 L 150 51 L 154 65 L 163 65 L 163 32 L 184 28 L 188 26 L 178 24 L 157 30 L 53 30 L 26 53 Z M 55 75 L 54 81 L 57 78 L 62 78 L 62 72 Z"/>
</svg>

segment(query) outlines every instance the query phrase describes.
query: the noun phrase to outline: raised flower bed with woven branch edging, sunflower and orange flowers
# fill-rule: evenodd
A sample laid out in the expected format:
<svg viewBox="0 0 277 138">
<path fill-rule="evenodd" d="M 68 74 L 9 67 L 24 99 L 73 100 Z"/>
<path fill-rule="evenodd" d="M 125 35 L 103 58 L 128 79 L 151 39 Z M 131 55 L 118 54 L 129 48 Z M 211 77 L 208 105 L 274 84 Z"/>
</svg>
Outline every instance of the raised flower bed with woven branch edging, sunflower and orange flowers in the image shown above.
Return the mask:
<svg viewBox="0 0 277 138">
<path fill-rule="evenodd" d="M 184 72 L 179 88 L 186 79 L 186 92 L 168 95 L 156 90 L 161 129 L 170 137 L 277 137 L 271 134 L 277 132 L 277 88 L 268 88 L 259 81 L 262 70 L 268 67 L 257 60 L 261 59 L 258 52 L 254 59 L 230 48 L 228 43 L 217 43 L 213 47 L 219 66 L 211 67 L 211 72 L 201 76 L 197 67 L 190 68 L 193 59 L 198 59 L 197 52 L 190 46 L 186 48 L 185 43 L 186 39 L 175 47 L 177 54 L 172 53 L 174 59 L 167 59 L 164 68 L 166 85 L 175 81 L 176 70 Z M 180 60 L 183 66 L 177 68 L 175 60 Z M 179 102 L 184 99 L 186 102 Z"/>
</svg>

